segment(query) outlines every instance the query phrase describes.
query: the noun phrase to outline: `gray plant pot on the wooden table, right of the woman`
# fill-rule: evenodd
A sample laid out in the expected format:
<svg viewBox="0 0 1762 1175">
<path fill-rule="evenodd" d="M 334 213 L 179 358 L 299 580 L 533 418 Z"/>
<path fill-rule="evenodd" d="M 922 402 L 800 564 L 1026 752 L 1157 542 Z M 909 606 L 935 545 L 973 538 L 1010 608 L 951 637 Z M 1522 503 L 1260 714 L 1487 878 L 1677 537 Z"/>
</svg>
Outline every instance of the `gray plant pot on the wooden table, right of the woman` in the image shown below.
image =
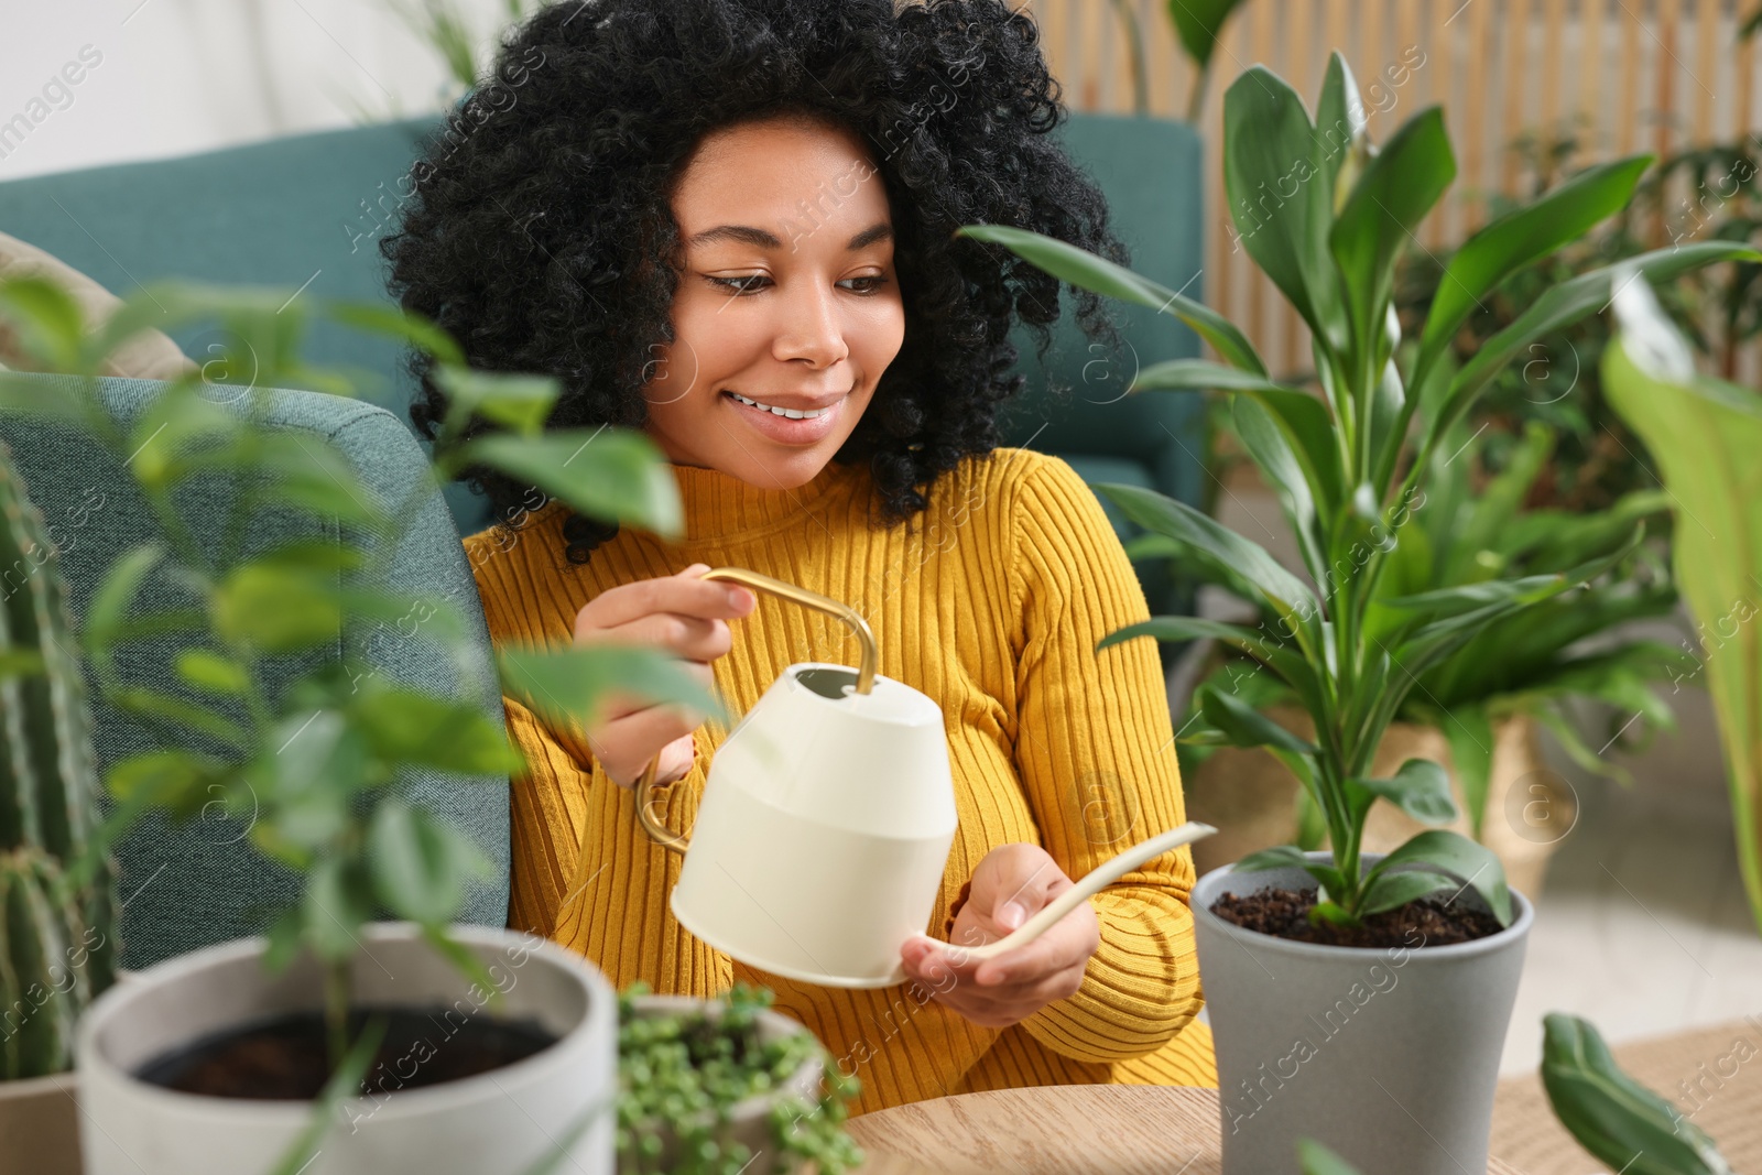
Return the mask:
<svg viewBox="0 0 1762 1175">
<path fill-rule="evenodd" d="M 1311 860 L 1330 860 L 1311 853 Z M 1366 854 L 1369 868 L 1381 854 Z M 1362 1175 L 1480 1175 L 1492 1092 L 1535 911 L 1454 946 L 1318 946 L 1210 913 L 1225 893 L 1313 890 L 1300 868 L 1214 868 L 1193 888 L 1218 1050 L 1223 1175 L 1297 1171 L 1314 1138 Z M 1485 909 L 1473 890 L 1459 902 Z"/>
</svg>

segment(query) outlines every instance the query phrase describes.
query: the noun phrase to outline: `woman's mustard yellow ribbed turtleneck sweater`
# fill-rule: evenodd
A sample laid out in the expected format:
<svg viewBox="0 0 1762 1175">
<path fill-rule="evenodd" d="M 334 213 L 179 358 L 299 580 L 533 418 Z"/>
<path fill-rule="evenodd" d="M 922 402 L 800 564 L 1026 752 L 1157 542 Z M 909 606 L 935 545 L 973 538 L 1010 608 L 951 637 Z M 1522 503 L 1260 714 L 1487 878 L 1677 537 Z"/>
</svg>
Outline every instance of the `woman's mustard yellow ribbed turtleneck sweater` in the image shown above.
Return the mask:
<svg viewBox="0 0 1762 1175">
<path fill-rule="evenodd" d="M 946 937 L 962 884 L 985 854 L 1040 844 L 1073 879 L 1186 819 L 1156 647 L 1094 652 L 1149 617 L 1144 590 L 1099 502 L 1054 456 L 997 449 L 930 490 L 909 525 L 876 527 L 863 467 L 830 463 L 796 490 L 671 467 L 685 539 L 629 527 L 585 565 L 564 557 L 557 502 L 520 530 L 465 539 L 495 643 L 569 643 L 576 611 L 633 580 L 692 562 L 749 567 L 849 602 L 874 629 L 879 671 L 943 708 L 959 831 L 927 930 Z M 729 622 L 715 685 L 744 713 L 800 661 L 856 664 L 844 625 L 759 594 Z M 777 994 L 862 1080 L 853 1113 L 925 1097 L 1050 1083 L 1218 1083 L 1210 1034 L 1195 1020 L 1200 974 L 1182 847 L 1108 886 L 1092 905 L 1101 946 L 1082 990 L 1008 1029 L 985 1029 L 916 985 L 842 990 L 735 962 L 668 911 L 682 858 L 645 837 L 631 789 L 587 752 L 506 699 L 529 770 L 513 787 L 509 925 L 590 958 L 617 988 L 712 997 L 737 979 Z M 666 824 L 689 831 L 724 724 L 698 731 L 698 761 L 668 789 Z M 923 1002 L 920 1002 L 923 997 Z"/>
</svg>

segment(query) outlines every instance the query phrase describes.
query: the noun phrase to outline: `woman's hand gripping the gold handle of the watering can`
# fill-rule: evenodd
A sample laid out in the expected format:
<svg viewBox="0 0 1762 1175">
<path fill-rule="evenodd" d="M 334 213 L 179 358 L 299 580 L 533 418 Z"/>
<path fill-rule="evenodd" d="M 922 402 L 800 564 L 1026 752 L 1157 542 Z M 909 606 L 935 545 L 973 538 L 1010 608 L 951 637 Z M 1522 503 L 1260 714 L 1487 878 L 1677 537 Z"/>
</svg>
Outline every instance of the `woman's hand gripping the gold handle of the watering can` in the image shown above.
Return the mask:
<svg viewBox="0 0 1762 1175">
<path fill-rule="evenodd" d="M 758 606 L 749 588 L 703 580 L 708 564 L 692 564 L 677 576 L 636 580 L 608 588 L 574 613 L 574 645 L 647 645 L 685 661 L 685 669 L 705 687 L 714 680 L 710 662 L 728 652 L 728 620 Z M 703 715 L 677 705 L 647 705 L 615 694 L 597 726 L 587 728 L 587 743 L 611 782 L 633 787 L 655 754 L 655 782 L 684 777 L 696 757 L 692 731 Z"/>
</svg>

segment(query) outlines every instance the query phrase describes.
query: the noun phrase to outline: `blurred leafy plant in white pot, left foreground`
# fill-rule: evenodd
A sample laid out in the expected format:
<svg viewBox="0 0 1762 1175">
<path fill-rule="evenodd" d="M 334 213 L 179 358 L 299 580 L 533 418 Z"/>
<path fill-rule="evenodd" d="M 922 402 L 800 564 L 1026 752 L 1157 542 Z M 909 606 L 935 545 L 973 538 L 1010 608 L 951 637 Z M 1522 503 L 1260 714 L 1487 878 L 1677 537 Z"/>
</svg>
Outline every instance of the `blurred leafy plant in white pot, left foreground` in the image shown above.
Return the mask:
<svg viewBox="0 0 1762 1175">
<path fill-rule="evenodd" d="M 555 944 L 451 925 L 467 877 L 485 863 L 400 793 L 412 765 L 472 775 L 516 770 L 500 722 L 476 701 L 351 676 L 312 655 L 335 647 L 344 615 L 407 611 L 407 595 L 382 581 L 384 553 L 435 484 L 381 504 L 321 439 L 287 444 L 259 423 L 275 386 L 347 391 L 335 375 L 298 365 L 301 312 L 289 291 L 160 285 L 92 336 L 48 282 L 5 284 L 0 307 L 19 321 L 44 370 L 92 373 L 116 342 L 167 314 L 217 317 L 224 335 L 252 352 L 233 349 L 203 373 L 166 384 L 136 419 L 113 419 L 97 395 L 42 396 L 23 377 L 0 386 L 5 410 L 48 414 L 99 439 L 127 465 L 162 527 L 162 541 L 116 558 L 79 632 L 104 698 L 164 731 L 159 747 L 111 768 L 116 812 L 92 842 L 100 847 L 141 812 L 189 819 L 222 803 L 248 816 L 257 851 L 303 881 L 298 904 L 266 935 L 134 974 L 79 1020 L 88 1175 L 307 1164 L 515 1173 L 546 1157 L 610 1171 L 615 994 Z M 488 463 L 578 509 L 677 528 L 678 504 L 647 439 L 601 435 L 596 460 L 571 465 L 562 458 L 585 433 L 539 435 L 555 381 L 470 372 L 451 338 L 398 312 L 331 312 L 442 359 L 453 409 L 435 449 L 442 476 Z M 204 379 L 224 382 L 245 370 L 250 382 L 227 386 L 227 396 L 203 395 L 211 391 Z M 462 440 L 472 418 L 504 430 Z M 307 511 L 340 525 L 345 541 L 204 550 L 185 511 L 211 499 L 178 493 L 199 472 L 248 477 L 248 491 L 229 500 L 227 536 L 243 536 L 250 511 Z M 187 604 L 141 615 L 134 601 L 152 574 L 180 585 Z M 449 604 L 428 602 L 435 639 L 458 639 Z M 203 703 L 125 671 L 120 650 L 152 636 L 178 641 L 174 673 Z M 270 696 L 263 668 L 277 657 L 317 668 Z M 499 668 L 504 691 L 546 691 L 578 713 L 592 713 L 613 684 L 717 710 L 677 666 L 638 650 L 504 648 Z M 384 914 L 402 921 L 375 921 Z"/>
</svg>

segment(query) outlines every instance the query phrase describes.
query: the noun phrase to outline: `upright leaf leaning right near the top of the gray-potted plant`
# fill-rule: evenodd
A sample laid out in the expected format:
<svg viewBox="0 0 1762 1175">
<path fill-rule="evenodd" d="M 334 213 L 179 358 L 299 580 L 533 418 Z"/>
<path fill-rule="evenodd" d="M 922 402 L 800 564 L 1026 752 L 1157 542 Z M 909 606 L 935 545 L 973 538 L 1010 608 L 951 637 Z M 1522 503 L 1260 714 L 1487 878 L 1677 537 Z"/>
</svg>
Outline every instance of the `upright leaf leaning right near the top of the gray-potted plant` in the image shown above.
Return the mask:
<svg viewBox="0 0 1762 1175">
<path fill-rule="evenodd" d="M 1455 153 L 1443 127 L 1443 107 L 1431 106 L 1403 123 L 1366 166 L 1334 220 L 1329 248 L 1346 285 L 1346 308 L 1364 372 L 1381 370 L 1378 342 L 1385 331 L 1396 262 L 1454 181 Z M 1362 426 L 1369 412 L 1357 416 Z"/>
</svg>

